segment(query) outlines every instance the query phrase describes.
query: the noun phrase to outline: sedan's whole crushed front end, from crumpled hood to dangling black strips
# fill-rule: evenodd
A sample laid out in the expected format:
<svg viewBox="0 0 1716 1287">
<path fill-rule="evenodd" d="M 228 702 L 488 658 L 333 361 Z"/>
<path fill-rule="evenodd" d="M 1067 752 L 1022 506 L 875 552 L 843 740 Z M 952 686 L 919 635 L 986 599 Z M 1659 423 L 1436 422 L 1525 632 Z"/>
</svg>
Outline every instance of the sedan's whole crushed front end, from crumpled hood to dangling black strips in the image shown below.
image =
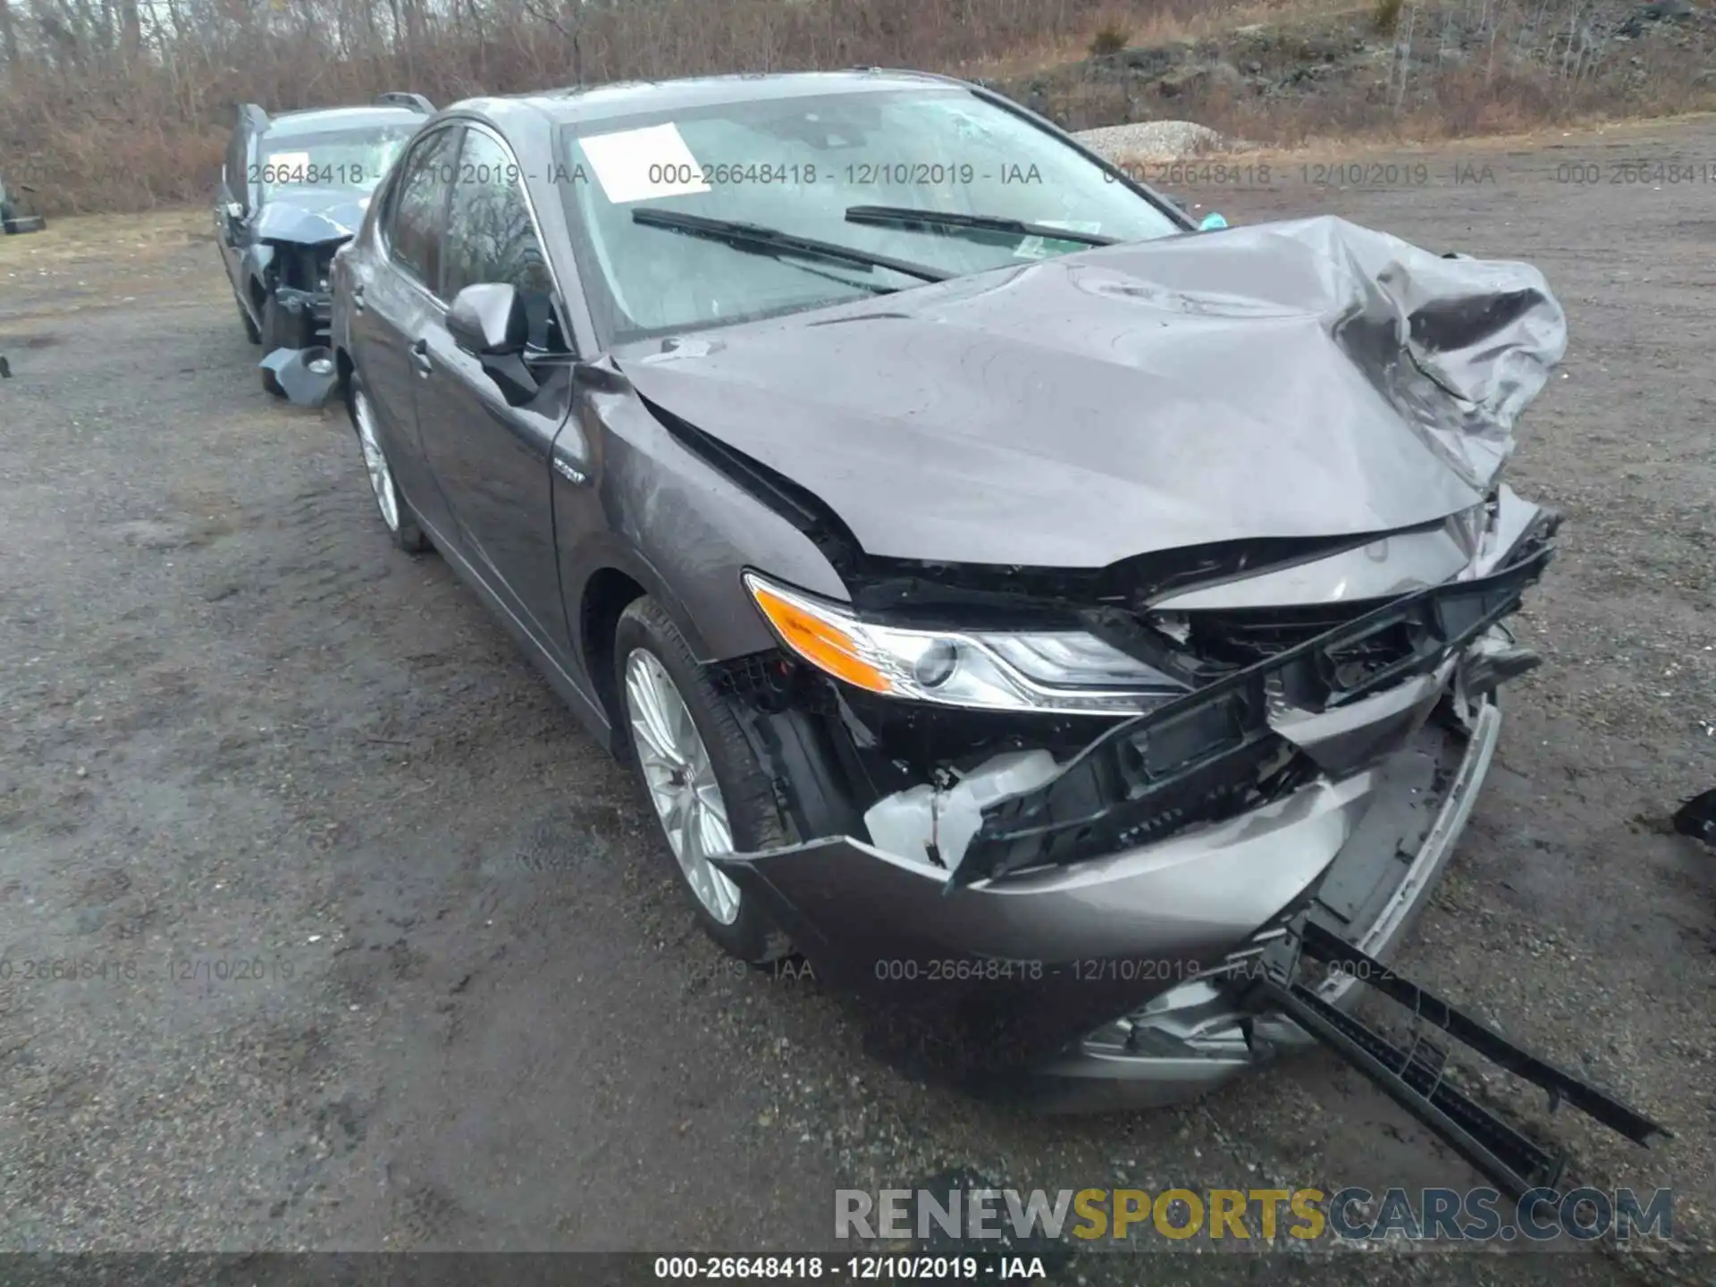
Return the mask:
<svg viewBox="0 0 1716 1287">
<path fill-rule="evenodd" d="M 719 669 L 800 843 L 712 861 L 820 976 L 925 1007 L 964 1071 L 1048 1107 L 1170 1103 L 1316 1040 L 1500 1184 L 1553 1175 L 1433 1040 L 1352 1014 L 1368 983 L 1642 1143 L 1380 976 L 1483 789 L 1498 688 L 1538 664 L 1508 621 L 1560 520 L 1500 475 L 1565 350 L 1541 275 L 1309 220 L 937 290 L 769 331 L 949 359 L 837 384 L 851 432 L 746 403 L 832 376 L 743 338 L 631 364 L 846 590 L 743 575 L 777 649 Z M 1052 348 L 1043 316 L 1088 324 Z M 1002 369 L 1006 400 L 971 378 Z M 700 379 L 693 426 L 666 407 Z"/>
</svg>

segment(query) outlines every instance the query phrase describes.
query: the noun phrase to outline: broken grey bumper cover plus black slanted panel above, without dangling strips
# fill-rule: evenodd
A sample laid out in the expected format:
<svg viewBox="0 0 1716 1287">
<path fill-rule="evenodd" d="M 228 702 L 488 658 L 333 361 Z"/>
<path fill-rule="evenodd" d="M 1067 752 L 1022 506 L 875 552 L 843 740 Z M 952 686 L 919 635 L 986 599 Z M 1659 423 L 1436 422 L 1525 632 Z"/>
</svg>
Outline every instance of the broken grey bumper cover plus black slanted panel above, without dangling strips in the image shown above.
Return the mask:
<svg viewBox="0 0 1716 1287">
<path fill-rule="evenodd" d="M 1550 530 L 1500 571 L 1395 599 L 1110 728 L 987 805 L 952 870 L 853 836 L 716 861 L 825 976 L 961 1009 L 997 999 L 997 1064 L 1194 1095 L 1253 1059 L 1227 1040 L 1237 1004 L 1210 978 L 1260 930 L 1320 903 L 1387 951 L 1411 923 L 1483 784 L 1489 693 L 1526 656 L 1496 623 L 1548 563 Z M 1345 650 L 1380 630 L 1412 644 L 1337 683 Z M 1292 745 L 1299 777 L 1199 815 L 1272 741 Z M 1163 819 L 1191 820 L 1163 834 Z M 1141 1023 L 1151 1002 L 1165 1014 Z"/>
</svg>

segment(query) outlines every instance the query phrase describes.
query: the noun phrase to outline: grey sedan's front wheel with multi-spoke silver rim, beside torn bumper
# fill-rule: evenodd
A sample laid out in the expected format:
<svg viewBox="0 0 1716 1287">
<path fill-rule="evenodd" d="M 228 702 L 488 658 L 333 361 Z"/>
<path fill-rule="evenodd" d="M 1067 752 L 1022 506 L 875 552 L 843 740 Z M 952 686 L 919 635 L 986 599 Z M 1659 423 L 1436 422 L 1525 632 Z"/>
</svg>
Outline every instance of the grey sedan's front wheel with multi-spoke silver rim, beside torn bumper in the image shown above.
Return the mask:
<svg viewBox="0 0 1716 1287">
<path fill-rule="evenodd" d="M 626 743 L 704 932 L 752 964 L 791 956 L 757 901 L 707 858 L 793 843 L 731 702 L 647 595 L 619 614 L 614 671 Z"/>
</svg>

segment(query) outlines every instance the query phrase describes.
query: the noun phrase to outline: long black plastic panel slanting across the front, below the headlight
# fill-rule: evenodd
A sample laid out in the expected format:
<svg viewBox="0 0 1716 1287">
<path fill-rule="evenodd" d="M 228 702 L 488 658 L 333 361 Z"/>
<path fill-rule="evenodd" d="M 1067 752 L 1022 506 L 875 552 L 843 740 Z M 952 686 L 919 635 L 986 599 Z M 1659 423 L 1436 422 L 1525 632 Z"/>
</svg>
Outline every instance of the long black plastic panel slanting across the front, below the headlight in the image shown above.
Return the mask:
<svg viewBox="0 0 1716 1287">
<path fill-rule="evenodd" d="M 1146 844 L 1302 784 L 1314 769 L 1292 755 L 1272 717 L 1340 710 L 1438 671 L 1519 607 L 1555 554 L 1555 522 L 1546 515 L 1488 577 L 1393 599 L 1109 729 L 1042 788 L 987 807 L 949 889 Z M 1405 656 L 1344 683 L 1342 654 L 1383 631 L 1404 631 Z"/>
</svg>

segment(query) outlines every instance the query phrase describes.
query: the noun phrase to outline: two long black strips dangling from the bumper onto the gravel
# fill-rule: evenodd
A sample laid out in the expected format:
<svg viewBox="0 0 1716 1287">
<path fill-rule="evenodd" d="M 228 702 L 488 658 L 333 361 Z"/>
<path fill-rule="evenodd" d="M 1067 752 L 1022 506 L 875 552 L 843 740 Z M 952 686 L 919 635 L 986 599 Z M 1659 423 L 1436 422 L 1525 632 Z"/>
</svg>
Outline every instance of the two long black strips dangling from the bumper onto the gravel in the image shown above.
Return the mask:
<svg viewBox="0 0 1716 1287">
<path fill-rule="evenodd" d="M 1352 971 L 1356 978 L 1409 1009 L 1414 1019 L 1412 1043 L 1400 1048 L 1318 997 L 1314 983 L 1301 982 L 1301 964 L 1306 959 Z M 1260 1011 L 1290 1018 L 1387 1091 L 1510 1198 L 1517 1199 L 1538 1187 L 1556 1187 L 1565 1170 L 1565 1155 L 1550 1153 L 1450 1085 L 1447 1052 L 1424 1036 L 1421 1028 L 1447 1033 L 1522 1081 L 1541 1086 L 1550 1095 L 1551 1112 L 1563 1102 L 1570 1103 L 1635 1145 L 1647 1145 L 1653 1136 L 1671 1138 L 1661 1126 L 1606 1091 L 1522 1050 L 1441 997 L 1400 978 L 1304 913 L 1265 951 L 1260 973 L 1263 978 L 1253 997 Z"/>
</svg>

